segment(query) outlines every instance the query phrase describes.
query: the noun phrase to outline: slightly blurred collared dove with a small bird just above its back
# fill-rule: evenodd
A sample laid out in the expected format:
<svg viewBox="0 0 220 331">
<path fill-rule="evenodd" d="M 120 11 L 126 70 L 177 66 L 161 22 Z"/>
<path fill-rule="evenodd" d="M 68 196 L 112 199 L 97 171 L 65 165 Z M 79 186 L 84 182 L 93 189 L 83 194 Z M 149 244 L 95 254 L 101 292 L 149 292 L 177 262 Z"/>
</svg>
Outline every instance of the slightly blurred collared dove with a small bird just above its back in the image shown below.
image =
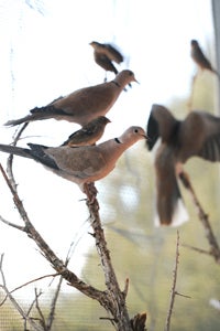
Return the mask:
<svg viewBox="0 0 220 331">
<path fill-rule="evenodd" d="M 48 118 L 65 119 L 85 126 L 94 118 L 105 116 L 130 82 L 138 81 L 133 72 L 124 70 L 111 82 L 77 89 L 48 106 L 30 110 L 31 114 L 23 118 L 9 120 L 6 126 Z"/>
</svg>

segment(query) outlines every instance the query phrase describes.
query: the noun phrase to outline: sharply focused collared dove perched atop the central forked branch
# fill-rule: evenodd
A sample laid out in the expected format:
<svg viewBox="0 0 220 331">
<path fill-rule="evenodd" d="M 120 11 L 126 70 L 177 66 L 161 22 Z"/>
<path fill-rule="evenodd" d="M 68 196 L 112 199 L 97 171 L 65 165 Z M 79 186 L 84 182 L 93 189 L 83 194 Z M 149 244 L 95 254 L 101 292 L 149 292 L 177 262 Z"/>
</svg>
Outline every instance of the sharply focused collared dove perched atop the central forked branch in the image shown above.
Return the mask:
<svg viewBox="0 0 220 331">
<path fill-rule="evenodd" d="M 120 156 L 138 140 L 146 139 L 141 127 L 130 127 L 119 138 L 99 145 L 70 148 L 46 147 L 29 143 L 30 149 L 0 145 L 2 152 L 33 159 L 47 170 L 79 185 L 87 192 L 87 185 L 105 178 L 114 169 Z"/>
</svg>

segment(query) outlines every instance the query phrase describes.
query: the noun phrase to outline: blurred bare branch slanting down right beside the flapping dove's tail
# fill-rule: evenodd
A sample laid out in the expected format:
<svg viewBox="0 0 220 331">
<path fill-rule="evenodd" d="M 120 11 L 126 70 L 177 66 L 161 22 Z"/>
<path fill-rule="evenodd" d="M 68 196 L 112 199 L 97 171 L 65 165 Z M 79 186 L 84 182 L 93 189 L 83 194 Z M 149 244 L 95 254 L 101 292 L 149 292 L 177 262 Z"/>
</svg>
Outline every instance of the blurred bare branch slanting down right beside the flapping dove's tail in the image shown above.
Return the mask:
<svg viewBox="0 0 220 331">
<path fill-rule="evenodd" d="M 191 185 L 191 182 L 189 180 L 189 175 L 185 171 L 182 171 L 180 174 L 179 174 L 179 178 L 180 178 L 184 186 L 191 194 L 193 202 L 194 202 L 194 204 L 196 206 L 199 220 L 201 221 L 201 224 L 202 224 L 202 226 L 205 228 L 205 234 L 206 234 L 206 237 L 207 237 L 209 246 L 210 246 L 210 255 L 212 255 L 212 257 L 215 258 L 216 263 L 220 264 L 220 248 L 219 248 L 218 242 L 217 242 L 216 236 L 213 234 L 213 231 L 211 228 L 211 225 L 210 225 L 210 222 L 209 222 L 209 217 L 205 213 L 204 209 L 201 207 L 200 202 L 198 201 L 196 192 L 195 192 L 195 190 L 194 190 L 194 188 Z"/>
</svg>

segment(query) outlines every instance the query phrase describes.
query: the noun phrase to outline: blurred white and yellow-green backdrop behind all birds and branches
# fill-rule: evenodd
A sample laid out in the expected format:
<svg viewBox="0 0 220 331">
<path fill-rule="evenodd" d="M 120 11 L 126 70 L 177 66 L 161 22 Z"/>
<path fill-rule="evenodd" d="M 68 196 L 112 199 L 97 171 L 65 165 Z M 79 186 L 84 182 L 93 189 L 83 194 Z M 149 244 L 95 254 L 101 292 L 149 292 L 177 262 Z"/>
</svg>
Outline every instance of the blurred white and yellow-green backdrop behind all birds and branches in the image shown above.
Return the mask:
<svg viewBox="0 0 220 331">
<path fill-rule="evenodd" d="M 102 140 L 121 135 L 131 125 L 146 127 L 153 103 L 168 107 L 177 118 L 193 109 L 219 114 L 219 85 L 211 73 L 191 82 L 197 67 L 190 57 L 190 40 L 199 41 L 217 67 L 213 8 L 210 0 L 0 0 L 0 141 L 11 143 L 16 128 L 9 119 L 22 117 L 35 106 L 89 85 L 103 82 L 105 72 L 94 61 L 91 41 L 117 45 L 124 55 L 118 70 L 130 68 L 140 84 L 123 92 L 108 113 L 111 120 Z M 114 77 L 108 73 L 108 81 Z M 79 126 L 53 119 L 31 124 L 19 141 L 61 145 Z M 2 166 L 7 156 L 0 154 Z M 186 169 L 198 197 L 209 214 L 217 238 L 219 226 L 219 166 L 190 159 Z M 88 234 L 88 211 L 78 186 L 29 160 L 15 158 L 14 175 L 26 212 L 59 258 L 70 247 L 69 268 L 100 289 L 102 270 L 94 238 Z M 128 150 L 116 170 L 97 182 L 100 214 L 112 263 L 121 288 L 130 279 L 128 309 L 131 316 L 147 311 L 147 330 L 163 330 L 175 265 L 177 228 L 154 226 L 155 190 L 153 158 L 143 141 Z M 205 231 L 194 204 L 182 188 L 189 222 L 180 226 L 182 244 L 208 249 Z M 21 224 L 12 196 L 0 177 L 0 215 Z M 3 203 L 2 203 L 3 202 Z M 53 274 L 34 243 L 23 233 L 0 223 L 0 253 L 10 290 L 37 277 Z M 219 311 L 210 306 L 220 299 L 220 269 L 207 255 L 180 247 L 177 297 L 172 329 L 219 330 Z M 1 284 L 1 281 L 0 281 Z M 44 279 L 14 292 L 28 309 L 34 288 L 48 311 L 57 279 Z M 0 291 L 0 298 L 4 297 Z M 106 311 L 63 282 L 53 330 L 112 330 L 99 320 Z M 1 330 L 23 330 L 19 313 L 7 301 L 0 307 Z"/>
</svg>

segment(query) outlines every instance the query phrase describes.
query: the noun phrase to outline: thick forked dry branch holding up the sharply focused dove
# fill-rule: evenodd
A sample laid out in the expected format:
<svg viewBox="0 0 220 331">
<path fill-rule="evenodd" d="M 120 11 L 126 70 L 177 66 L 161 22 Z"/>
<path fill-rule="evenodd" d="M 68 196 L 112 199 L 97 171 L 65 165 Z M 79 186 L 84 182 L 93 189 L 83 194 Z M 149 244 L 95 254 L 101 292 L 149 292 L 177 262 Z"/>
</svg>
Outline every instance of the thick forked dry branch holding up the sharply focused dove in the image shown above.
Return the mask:
<svg viewBox="0 0 220 331">
<path fill-rule="evenodd" d="M 2 172 L 2 175 L 12 193 L 14 204 L 24 222 L 24 226 L 18 226 L 16 224 L 13 224 L 6 220 L 4 221 L 1 220 L 1 221 L 7 223 L 9 226 L 15 227 L 19 231 L 26 233 L 28 236 L 36 243 L 36 245 L 40 247 L 41 253 L 51 263 L 52 267 L 56 270 L 56 273 L 59 274 L 64 279 L 68 281 L 69 286 L 75 287 L 76 289 L 78 289 L 89 298 L 99 301 L 99 303 L 108 312 L 109 314 L 108 319 L 114 325 L 116 330 L 132 331 L 131 321 L 125 306 L 125 297 L 128 292 L 129 282 L 127 280 L 124 290 L 120 290 L 116 277 L 116 273 L 112 267 L 110 252 L 107 247 L 105 233 L 101 227 L 101 221 L 99 216 L 99 204 L 96 196 L 94 196 L 94 199 L 91 200 L 91 194 L 96 191 L 94 183 L 91 184 L 91 188 L 88 188 L 87 205 L 90 212 L 90 218 L 89 218 L 90 225 L 94 229 L 92 236 L 96 241 L 97 250 L 100 256 L 102 269 L 105 273 L 106 286 L 107 286 L 106 291 L 100 291 L 94 288 L 92 286 L 84 282 L 73 271 L 70 271 L 67 268 L 66 263 L 61 260 L 55 255 L 55 253 L 51 249 L 51 247 L 46 244 L 46 242 L 43 239 L 43 237 L 40 235 L 40 233 L 35 229 L 35 227 L 31 223 L 29 215 L 23 206 L 23 203 L 16 192 L 16 186 L 11 183 L 11 181 L 14 181 L 13 175 L 11 177 L 10 180 L 1 164 L 0 164 L 0 171 Z M 90 192 L 89 189 L 92 189 L 92 192 Z"/>
</svg>

